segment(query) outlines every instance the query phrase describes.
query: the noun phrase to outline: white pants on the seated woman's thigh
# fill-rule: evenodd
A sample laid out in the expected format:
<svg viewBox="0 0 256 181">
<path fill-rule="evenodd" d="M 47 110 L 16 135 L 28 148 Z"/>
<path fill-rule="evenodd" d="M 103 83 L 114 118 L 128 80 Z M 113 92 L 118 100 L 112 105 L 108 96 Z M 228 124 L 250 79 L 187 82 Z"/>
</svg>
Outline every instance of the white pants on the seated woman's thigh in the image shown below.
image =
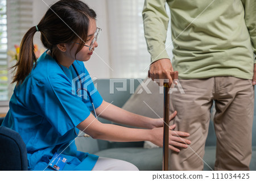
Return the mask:
<svg viewBox="0 0 256 181">
<path fill-rule="evenodd" d="M 139 169 L 120 159 L 99 157 L 92 171 L 139 171 Z"/>
</svg>

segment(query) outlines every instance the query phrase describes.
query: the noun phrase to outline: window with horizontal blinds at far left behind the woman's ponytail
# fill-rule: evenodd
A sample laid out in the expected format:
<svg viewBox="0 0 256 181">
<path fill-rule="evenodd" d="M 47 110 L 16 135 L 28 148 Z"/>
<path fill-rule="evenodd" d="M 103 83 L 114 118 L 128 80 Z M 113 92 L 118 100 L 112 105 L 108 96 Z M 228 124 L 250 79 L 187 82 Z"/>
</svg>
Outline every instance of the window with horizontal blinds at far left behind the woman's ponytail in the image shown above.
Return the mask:
<svg viewBox="0 0 256 181">
<path fill-rule="evenodd" d="M 15 61 L 10 62 L 7 50 L 15 51 L 24 33 L 32 26 L 32 0 L 0 0 L 0 106 L 7 106 L 14 85 L 8 71 Z M 6 102 L 5 102 L 6 101 Z M 7 105 L 6 105 L 7 103 Z"/>
</svg>

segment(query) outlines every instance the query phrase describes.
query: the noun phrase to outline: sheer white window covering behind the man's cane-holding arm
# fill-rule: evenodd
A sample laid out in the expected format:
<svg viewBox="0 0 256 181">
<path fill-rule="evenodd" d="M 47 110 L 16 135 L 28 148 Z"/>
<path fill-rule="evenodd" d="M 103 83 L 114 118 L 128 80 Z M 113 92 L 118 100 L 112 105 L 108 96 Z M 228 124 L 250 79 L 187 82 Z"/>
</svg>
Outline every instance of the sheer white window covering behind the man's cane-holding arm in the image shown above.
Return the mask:
<svg viewBox="0 0 256 181">
<path fill-rule="evenodd" d="M 112 78 L 146 78 L 150 54 L 144 39 L 144 0 L 111 0 L 108 4 Z M 168 7 L 168 6 L 167 6 Z M 170 10 L 167 8 L 170 15 Z M 170 23 L 166 47 L 171 44 Z M 172 45 L 167 52 L 172 58 Z"/>
</svg>

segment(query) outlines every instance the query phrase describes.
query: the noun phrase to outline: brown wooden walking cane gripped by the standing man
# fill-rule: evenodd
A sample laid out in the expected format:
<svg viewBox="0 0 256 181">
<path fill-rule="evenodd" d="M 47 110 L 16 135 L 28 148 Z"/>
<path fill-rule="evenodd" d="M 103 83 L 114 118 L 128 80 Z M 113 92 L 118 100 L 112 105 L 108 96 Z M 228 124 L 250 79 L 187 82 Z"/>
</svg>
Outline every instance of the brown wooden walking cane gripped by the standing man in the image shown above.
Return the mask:
<svg viewBox="0 0 256 181">
<path fill-rule="evenodd" d="M 178 79 L 177 71 L 171 72 L 172 81 Z M 150 78 L 150 71 L 148 70 L 148 78 Z M 170 94 L 168 94 L 170 87 L 164 83 L 164 126 L 163 126 L 163 171 L 168 170 L 169 157 L 169 117 L 170 117 Z"/>
</svg>

